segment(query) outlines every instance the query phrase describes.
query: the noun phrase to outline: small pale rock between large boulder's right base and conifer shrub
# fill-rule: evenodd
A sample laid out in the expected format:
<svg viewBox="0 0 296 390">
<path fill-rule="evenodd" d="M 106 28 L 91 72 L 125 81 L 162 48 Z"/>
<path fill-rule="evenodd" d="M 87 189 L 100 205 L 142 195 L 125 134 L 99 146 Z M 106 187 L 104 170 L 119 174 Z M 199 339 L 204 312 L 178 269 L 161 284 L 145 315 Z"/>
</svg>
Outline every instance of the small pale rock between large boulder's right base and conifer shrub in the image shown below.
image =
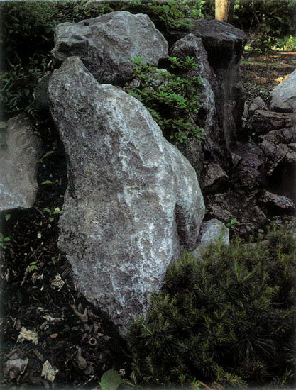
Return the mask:
<svg viewBox="0 0 296 390">
<path fill-rule="evenodd" d="M 203 222 L 200 231 L 198 246 L 192 251 L 193 257 L 199 257 L 202 254 L 202 248 L 214 243 L 216 240 L 221 240 L 224 245 L 229 245 L 229 228 L 226 228 L 224 223 L 218 219 L 210 219 Z"/>
</svg>

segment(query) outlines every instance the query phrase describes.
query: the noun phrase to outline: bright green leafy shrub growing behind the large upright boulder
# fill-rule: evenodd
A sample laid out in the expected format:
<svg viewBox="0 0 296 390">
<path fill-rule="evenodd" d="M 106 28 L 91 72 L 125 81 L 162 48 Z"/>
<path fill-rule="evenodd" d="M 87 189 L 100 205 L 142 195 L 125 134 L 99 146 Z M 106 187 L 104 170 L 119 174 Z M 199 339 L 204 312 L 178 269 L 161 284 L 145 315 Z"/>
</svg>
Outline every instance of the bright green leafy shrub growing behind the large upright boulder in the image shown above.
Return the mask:
<svg viewBox="0 0 296 390">
<path fill-rule="evenodd" d="M 197 69 L 192 57 L 185 60 L 177 60 L 176 57 L 168 59 L 172 71 L 189 72 Z M 152 67 L 143 62 L 142 57 L 136 57 L 134 61 L 136 85 L 126 84 L 126 91 L 146 106 L 163 134 L 177 143 L 186 143 L 192 137 L 203 138 L 202 128 L 195 125 L 192 119 L 199 111 L 199 77 L 181 77 L 175 74 L 177 72 Z"/>
</svg>

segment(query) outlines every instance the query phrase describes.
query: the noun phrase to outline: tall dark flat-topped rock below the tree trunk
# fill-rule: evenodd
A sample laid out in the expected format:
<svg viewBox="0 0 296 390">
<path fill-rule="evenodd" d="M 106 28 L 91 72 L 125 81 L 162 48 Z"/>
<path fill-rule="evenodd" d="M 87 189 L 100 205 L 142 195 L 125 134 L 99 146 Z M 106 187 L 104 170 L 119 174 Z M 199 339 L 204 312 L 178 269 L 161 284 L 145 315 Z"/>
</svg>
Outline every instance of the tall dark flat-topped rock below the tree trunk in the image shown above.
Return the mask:
<svg viewBox="0 0 296 390">
<path fill-rule="evenodd" d="M 244 106 L 244 92 L 239 69 L 239 60 L 246 43 L 243 31 L 228 23 L 199 19 L 192 21 L 190 33 L 202 38 L 207 50 L 209 65 L 213 67 L 219 89 L 216 94 L 216 112 L 219 126 L 223 128 L 227 148 L 236 140 L 241 128 Z M 168 36 L 170 43 L 188 33 L 173 32 Z"/>
</svg>

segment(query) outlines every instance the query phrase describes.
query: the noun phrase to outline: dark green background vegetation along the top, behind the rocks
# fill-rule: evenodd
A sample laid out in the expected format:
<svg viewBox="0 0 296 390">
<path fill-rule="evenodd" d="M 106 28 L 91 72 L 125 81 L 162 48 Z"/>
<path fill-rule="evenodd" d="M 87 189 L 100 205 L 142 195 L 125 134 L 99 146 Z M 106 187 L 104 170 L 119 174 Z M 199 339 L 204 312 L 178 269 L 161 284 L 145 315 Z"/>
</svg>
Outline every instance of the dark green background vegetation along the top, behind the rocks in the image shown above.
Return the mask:
<svg viewBox="0 0 296 390">
<path fill-rule="evenodd" d="M 147 13 L 166 33 L 188 28 L 191 18 L 214 18 L 214 0 L 2 1 L 0 121 L 21 111 L 34 114 L 33 88 L 48 69 L 57 24 L 123 10 Z M 296 0 L 235 0 L 233 23 L 248 34 L 252 50 L 293 50 L 295 15 Z"/>
</svg>

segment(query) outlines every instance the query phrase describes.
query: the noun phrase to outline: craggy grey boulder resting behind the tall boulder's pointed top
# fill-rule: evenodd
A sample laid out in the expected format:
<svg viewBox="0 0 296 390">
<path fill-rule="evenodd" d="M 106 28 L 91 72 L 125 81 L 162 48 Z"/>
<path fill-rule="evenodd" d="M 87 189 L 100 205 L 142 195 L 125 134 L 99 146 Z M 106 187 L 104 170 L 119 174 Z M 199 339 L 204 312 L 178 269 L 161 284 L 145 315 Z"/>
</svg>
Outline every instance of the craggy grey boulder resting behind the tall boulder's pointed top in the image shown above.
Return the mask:
<svg viewBox="0 0 296 390">
<path fill-rule="evenodd" d="M 99 82 L 119 84 L 133 77 L 133 57 L 157 65 L 168 56 L 168 43 L 147 15 L 120 11 L 58 25 L 52 55 L 56 65 L 80 57 Z"/>
</svg>

